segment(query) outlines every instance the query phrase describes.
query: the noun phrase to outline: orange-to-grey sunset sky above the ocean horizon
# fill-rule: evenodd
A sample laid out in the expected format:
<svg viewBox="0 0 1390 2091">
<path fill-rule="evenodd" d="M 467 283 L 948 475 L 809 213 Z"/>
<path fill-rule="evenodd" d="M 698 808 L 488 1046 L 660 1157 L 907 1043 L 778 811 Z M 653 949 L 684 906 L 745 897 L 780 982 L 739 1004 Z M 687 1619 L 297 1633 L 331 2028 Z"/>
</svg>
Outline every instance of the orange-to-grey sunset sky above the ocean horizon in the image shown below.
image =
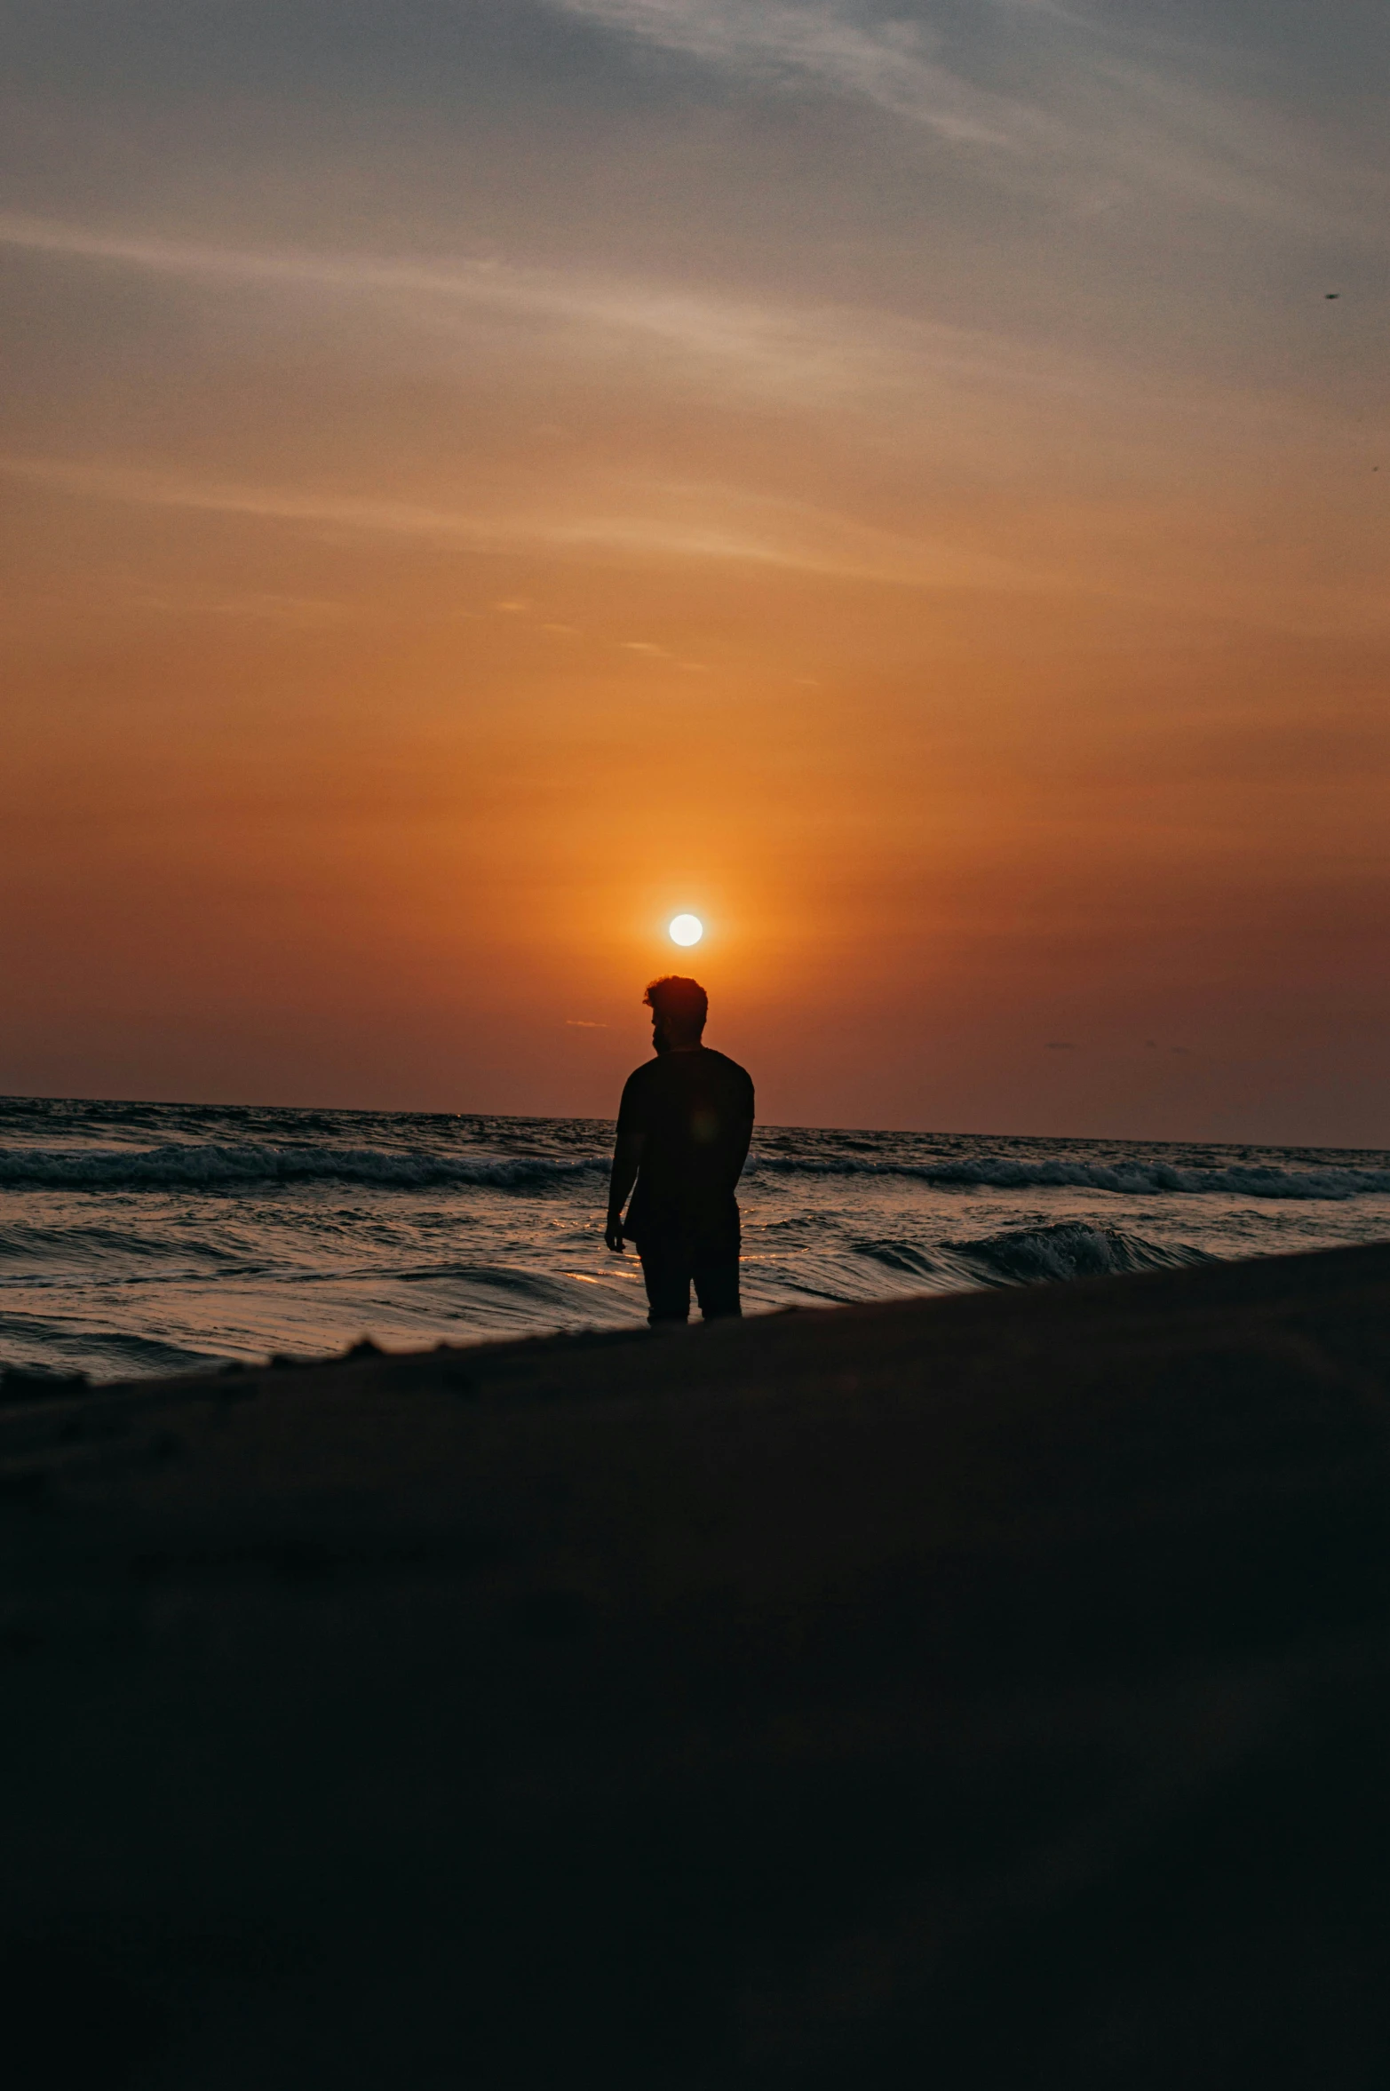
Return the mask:
<svg viewBox="0 0 1390 2091">
<path fill-rule="evenodd" d="M 0 61 L 0 1092 L 1390 1146 L 1382 0 Z"/>
</svg>

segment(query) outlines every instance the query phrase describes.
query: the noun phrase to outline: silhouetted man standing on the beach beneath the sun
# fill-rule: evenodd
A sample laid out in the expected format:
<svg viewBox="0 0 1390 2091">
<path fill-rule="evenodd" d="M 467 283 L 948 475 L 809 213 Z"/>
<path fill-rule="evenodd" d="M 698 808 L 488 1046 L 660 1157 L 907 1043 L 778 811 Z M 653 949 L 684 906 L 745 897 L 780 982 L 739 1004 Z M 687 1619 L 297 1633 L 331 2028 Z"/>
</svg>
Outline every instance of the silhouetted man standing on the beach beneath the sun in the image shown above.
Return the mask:
<svg viewBox="0 0 1390 2091">
<path fill-rule="evenodd" d="M 742 1313 L 734 1186 L 752 1140 L 752 1083 L 700 1043 L 709 997 L 698 981 L 652 981 L 654 1060 L 623 1085 L 604 1240 L 638 1244 L 648 1322 L 688 1322 L 694 1280 L 700 1313 Z M 623 1207 L 633 1188 L 627 1221 Z"/>
</svg>

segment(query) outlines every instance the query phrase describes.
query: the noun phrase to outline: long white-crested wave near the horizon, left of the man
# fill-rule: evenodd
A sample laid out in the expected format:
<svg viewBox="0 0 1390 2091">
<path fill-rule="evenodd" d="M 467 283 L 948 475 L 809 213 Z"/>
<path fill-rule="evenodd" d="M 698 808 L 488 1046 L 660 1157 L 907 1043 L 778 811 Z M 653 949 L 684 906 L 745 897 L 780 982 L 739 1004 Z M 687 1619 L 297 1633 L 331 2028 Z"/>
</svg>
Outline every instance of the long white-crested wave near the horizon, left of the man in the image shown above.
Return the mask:
<svg viewBox="0 0 1390 2091">
<path fill-rule="evenodd" d="M 600 1156 L 454 1156 L 389 1148 L 268 1148 L 171 1144 L 163 1148 L 0 1150 L 0 1188 L 15 1190 L 240 1190 L 259 1184 L 364 1184 L 380 1190 L 491 1186 L 546 1190 L 606 1173 Z"/>
</svg>

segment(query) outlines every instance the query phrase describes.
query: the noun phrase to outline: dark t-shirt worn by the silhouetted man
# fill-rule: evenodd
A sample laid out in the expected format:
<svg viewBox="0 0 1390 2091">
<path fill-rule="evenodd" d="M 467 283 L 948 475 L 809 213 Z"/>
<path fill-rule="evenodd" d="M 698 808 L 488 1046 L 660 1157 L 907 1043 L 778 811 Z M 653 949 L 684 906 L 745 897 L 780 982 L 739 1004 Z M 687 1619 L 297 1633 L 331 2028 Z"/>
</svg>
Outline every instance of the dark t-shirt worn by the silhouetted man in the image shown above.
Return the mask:
<svg viewBox="0 0 1390 2091">
<path fill-rule="evenodd" d="M 752 1081 L 727 1054 L 700 1046 L 648 1060 L 623 1085 L 619 1138 L 644 1133 L 638 1188 L 623 1232 L 732 1236 L 734 1186 L 748 1152 Z"/>
</svg>

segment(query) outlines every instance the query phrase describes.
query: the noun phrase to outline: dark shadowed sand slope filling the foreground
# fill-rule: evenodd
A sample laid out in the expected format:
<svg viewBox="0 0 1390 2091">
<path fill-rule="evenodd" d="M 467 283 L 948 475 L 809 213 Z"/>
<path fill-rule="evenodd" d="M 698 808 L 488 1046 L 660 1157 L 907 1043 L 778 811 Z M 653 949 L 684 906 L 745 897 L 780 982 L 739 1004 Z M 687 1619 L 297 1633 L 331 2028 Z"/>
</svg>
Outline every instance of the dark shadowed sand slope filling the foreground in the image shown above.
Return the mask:
<svg viewBox="0 0 1390 2091">
<path fill-rule="evenodd" d="M 1390 1248 L 0 1439 L 13 2091 L 1390 2083 Z"/>
</svg>

